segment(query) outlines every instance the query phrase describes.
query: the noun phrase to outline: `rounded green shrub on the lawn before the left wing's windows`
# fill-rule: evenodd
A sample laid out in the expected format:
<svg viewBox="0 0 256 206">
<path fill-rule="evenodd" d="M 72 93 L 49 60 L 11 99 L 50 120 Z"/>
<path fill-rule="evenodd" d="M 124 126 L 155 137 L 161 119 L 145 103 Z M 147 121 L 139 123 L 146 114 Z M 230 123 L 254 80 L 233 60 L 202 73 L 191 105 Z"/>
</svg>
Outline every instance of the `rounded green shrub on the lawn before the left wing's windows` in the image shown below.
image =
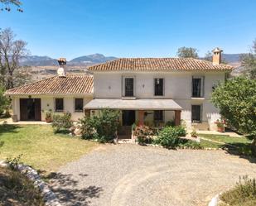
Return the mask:
<svg viewBox="0 0 256 206">
<path fill-rule="evenodd" d="M 54 128 L 56 133 L 68 132 L 68 129 L 72 127 L 71 114 L 64 113 L 63 115 L 54 114 L 52 118 L 51 126 Z"/>
</svg>

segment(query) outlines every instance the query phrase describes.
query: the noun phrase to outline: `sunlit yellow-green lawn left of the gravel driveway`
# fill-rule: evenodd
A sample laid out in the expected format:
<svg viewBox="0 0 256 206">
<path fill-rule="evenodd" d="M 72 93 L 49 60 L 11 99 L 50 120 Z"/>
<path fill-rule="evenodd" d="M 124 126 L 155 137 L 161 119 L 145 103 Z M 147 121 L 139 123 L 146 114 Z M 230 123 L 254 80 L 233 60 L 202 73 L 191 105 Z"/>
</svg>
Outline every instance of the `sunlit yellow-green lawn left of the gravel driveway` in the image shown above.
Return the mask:
<svg viewBox="0 0 256 206">
<path fill-rule="evenodd" d="M 55 134 L 50 125 L 0 125 L 0 159 L 17 157 L 36 170 L 50 173 L 91 151 L 96 142 Z"/>
</svg>

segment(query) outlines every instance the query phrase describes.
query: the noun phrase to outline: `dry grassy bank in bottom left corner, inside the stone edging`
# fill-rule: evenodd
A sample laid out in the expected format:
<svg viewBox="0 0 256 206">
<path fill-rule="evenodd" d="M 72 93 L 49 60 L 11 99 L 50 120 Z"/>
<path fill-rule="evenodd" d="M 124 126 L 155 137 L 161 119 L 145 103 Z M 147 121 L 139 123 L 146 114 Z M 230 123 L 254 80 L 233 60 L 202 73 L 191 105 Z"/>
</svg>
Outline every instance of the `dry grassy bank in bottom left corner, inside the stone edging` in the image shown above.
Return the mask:
<svg viewBox="0 0 256 206">
<path fill-rule="evenodd" d="M 38 189 L 19 171 L 0 167 L 0 205 L 43 206 Z"/>
</svg>

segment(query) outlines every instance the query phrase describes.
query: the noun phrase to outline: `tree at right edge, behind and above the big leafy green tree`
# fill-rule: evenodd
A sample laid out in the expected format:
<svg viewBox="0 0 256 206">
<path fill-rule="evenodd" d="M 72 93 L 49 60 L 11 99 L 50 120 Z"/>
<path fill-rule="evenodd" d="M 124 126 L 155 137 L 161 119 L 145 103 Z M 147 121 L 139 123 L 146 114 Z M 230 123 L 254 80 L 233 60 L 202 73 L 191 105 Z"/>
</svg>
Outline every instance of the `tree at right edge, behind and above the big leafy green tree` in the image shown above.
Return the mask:
<svg viewBox="0 0 256 206">
<path fill-rule="evenodd" d="M 245 71 L 249 74 L 249 78 L 256 79 L 256 40 L 249 54 L 241 55 L 240 60 Z"/>
</svg>

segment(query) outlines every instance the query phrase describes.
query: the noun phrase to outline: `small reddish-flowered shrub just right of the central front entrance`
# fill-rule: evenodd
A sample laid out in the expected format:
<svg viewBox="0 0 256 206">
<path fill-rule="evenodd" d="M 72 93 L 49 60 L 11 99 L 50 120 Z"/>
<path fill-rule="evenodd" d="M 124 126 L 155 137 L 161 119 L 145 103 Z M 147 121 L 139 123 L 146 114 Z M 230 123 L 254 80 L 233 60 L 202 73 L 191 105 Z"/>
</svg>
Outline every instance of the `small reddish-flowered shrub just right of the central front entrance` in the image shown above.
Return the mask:
<svg viewBox="0 0 256 206">
<path fill-rule="evenodd" d="M 152 129 L 147 126 L 135 127 L 133 134 L 137 137 L 139 144 L 150 144 L 152 143 Z"/>
</svg>

